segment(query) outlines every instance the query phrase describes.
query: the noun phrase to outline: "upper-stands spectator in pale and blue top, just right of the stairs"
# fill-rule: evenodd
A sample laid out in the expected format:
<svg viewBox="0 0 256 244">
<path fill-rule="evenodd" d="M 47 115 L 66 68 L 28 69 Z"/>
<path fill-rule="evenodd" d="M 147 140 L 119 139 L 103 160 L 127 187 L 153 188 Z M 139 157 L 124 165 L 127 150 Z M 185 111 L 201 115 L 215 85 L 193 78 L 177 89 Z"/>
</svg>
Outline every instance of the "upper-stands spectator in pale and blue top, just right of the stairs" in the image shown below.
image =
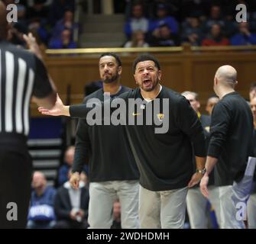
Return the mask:
<svg viewBox="0 0 256 244">
<path fill-rule="evenodd" d="M 148 31 L 148 20 L 144 18 L 141 4 L 136 4 L 132 7 L 132 17 L 125 23 L 125 34 L 128 39 L 131 38 L 131 34 L 136 30 L 141 30 L 144 34 Z"/>
</svg>

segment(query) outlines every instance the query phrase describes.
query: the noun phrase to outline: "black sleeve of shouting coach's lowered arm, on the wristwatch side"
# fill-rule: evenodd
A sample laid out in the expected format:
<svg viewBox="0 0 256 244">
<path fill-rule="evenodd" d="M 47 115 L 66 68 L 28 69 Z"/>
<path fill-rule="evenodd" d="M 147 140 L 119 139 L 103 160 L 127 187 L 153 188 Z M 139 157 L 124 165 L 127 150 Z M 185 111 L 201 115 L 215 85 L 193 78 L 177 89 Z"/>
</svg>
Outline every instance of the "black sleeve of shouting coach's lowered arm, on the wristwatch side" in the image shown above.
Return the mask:
<svg viewBox="0 0 256 244">
<path fill-rule="evenodd" d="M 193 143 L 195 156 L 205 157 L 206 140 L 203 127 L 196 112 L 191 108 L 190 102 L 186 98 L 181 98 L 178 102 L 177 123 L 180 130 L 189 136 L 191 143 Z"/>
</svg>

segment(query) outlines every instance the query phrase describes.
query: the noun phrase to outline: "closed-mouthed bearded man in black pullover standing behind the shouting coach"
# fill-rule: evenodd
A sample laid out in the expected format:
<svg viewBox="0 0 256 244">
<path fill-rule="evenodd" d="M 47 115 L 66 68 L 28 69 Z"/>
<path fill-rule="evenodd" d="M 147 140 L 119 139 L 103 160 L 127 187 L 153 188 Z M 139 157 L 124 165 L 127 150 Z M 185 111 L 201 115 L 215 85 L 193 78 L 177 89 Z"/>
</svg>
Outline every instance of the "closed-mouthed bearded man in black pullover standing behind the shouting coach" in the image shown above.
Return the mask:
<svg viewBox="0 0 256 244">
<path fill-rule="evenodd" d="M 103 102 L 131 91 L 120 83 L 122 62 L 115 53 L 102 53 L 99 74 L 103 88 L 86 96 L 85 103 L 92 98 Z M 89 126 L 86 120 L 80 119 L 76 130 L 74 173 L 70 178 L 75 187 L 85 162 L 89 164 L 90 228 L 110 229 L 112 208 L 117 198 L 121 204 L 122 229 L 138 228 L 139 173 L 125 127 L 110 123 Z"/>
</svg>

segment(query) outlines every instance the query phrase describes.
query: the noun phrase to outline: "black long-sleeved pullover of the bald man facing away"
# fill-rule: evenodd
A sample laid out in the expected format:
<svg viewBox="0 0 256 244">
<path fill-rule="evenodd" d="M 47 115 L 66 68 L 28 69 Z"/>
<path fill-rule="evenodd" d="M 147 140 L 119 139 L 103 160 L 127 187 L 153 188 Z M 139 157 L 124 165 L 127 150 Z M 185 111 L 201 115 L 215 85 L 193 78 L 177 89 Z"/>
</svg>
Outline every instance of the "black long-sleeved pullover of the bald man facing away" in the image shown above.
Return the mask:
<svg viewBox="0 0 256 244">
<path fill-rule="evenodd" d="M 253 151 L 253 131 L 251 109 L 237 92 L 215 104 L 208 148 L 208 156 L 218 159 L 215 185 L 232 185 L 244 176 Z"/>
</svg>

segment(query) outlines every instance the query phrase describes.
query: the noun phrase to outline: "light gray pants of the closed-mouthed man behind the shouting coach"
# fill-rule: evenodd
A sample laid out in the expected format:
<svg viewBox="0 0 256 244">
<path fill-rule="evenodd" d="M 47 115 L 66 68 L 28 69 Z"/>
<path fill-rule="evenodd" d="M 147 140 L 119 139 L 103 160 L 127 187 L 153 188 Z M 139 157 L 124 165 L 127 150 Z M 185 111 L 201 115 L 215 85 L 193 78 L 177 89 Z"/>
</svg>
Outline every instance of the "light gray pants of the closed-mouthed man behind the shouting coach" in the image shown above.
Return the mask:
<svg viewBox="0 0 256 244">
<path fill-rule="evenodd" d="M 138 223 L 138 181 L 91 182 L 89 185 L 90 229 L 109 229 L 112 226 L 112 207 L 119 198 L 122 229 L 136 229 Z"/>
</svg>

